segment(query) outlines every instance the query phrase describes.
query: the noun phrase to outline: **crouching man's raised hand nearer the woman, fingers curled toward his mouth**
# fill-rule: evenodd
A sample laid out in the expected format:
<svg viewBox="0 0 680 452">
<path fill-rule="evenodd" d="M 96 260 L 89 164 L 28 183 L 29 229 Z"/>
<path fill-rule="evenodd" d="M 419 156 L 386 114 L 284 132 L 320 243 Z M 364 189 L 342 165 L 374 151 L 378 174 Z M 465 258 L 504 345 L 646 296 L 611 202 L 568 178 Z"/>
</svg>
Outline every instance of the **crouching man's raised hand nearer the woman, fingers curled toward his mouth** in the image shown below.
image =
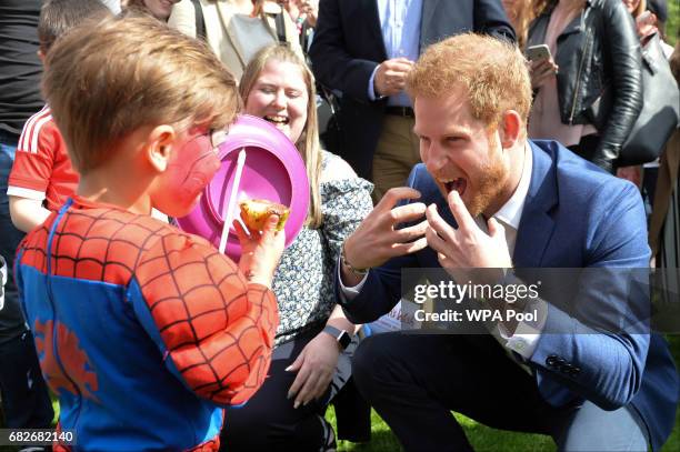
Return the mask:
<svg viewBox="0 0 680 452">
<path fill-rule="evenodd" d="M 388 190 L 378 205 L 344 241 L 344 257 L 356 269 L 383 264 L 390 258 L 409 254 L 428 245 L 424 235 L 427 221 L 396 230 L 399 223 L 421 219 L 426 211 L 422 202 L 394 207 L 404 199 L 418 199 L 420 192 L 407 187 Z M 343 271 L 344 274 L 344 271 Z"/>
</svg>

